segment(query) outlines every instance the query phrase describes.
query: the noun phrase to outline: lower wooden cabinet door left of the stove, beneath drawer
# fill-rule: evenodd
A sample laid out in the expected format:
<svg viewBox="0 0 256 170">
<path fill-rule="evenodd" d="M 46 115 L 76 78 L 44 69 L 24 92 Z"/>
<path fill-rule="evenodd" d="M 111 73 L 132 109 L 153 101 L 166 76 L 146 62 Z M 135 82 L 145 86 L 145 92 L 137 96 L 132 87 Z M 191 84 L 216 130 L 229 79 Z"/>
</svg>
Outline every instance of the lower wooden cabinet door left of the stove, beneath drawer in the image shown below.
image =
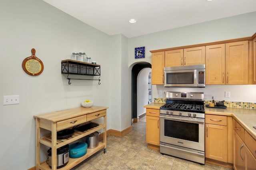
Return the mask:
<svg viewBox="0 0 256 170">
<path fill-rule="evenodd" d="M 160 118 L 146 116 L 146 142 L 160 146 Z"/>
</svg>

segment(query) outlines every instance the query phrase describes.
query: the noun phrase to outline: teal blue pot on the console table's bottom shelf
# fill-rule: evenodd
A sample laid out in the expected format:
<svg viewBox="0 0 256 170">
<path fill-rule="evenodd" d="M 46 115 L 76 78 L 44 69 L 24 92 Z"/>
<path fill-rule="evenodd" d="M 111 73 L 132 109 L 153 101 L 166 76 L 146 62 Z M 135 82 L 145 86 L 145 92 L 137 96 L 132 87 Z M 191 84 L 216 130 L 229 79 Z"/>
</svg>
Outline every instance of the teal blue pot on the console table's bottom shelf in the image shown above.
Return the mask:
<svg viewBox="0 0 256 170">
<path fill-rule="evenodd" d="M 84 156 L 87 152 L 87 143 L 85 142 L 76 142 L 70 144 L 69 146 L 69 157 L 70 158 L 79 158 Z"/>
</svg>

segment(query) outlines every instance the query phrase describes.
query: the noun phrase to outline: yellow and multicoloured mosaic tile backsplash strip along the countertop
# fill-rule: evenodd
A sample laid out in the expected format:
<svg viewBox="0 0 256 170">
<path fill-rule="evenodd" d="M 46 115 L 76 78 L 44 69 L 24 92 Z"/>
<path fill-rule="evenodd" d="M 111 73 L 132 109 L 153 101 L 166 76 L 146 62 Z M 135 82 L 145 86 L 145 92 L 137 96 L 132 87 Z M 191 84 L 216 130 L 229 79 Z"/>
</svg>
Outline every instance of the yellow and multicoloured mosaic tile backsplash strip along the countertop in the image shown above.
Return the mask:
<svg viewBox="0 0 256 170">
<path fill-rule="evenodd" d="M 156 103 L 166 103 L 166 99 L 154 98 L 154 102 L 156 102 Z M 215 102 L 219 102 L 219 101 L 215 101 Z M 209 103 L 212 103 L 212 101 L 211 100 L 204 101 L 204 105 L 209 105 Z M 256 103 L 251 103 L 251 102 L 225 101 L 224 105 L 226 107 L 256 109 Z"/>
</svg>

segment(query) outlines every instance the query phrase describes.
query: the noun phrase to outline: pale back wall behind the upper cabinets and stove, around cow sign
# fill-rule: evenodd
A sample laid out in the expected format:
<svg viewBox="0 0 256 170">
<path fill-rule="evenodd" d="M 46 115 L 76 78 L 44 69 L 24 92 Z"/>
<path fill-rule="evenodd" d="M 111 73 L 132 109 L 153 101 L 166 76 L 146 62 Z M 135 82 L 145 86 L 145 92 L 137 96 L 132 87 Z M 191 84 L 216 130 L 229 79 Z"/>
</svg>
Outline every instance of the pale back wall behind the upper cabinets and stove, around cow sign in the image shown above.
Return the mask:
<svg viewBox="0 0 256 170">
<path fill-rule="evenodd" d="M 251 37 L 256 32 L 255 18 L 256 12 L 251 12 L 130 38 L 129 65 L 138 61 L 151 63 L 150 50 Z M 142 46 L 146 49 L 145 59 L 134 59 L 134 48 Z M 214 95 L 216 100 L 256 102 L 255 89 L 256 85 L 207 85 L 206 88 L 164 88 L 163 85 L 153 85 L 152 95 L 153 98 L 165 98 L 158 94 L 159 90 L 198 91 L 204 92 L 206 100 Z M 225 91 L 230 91 L 230 98 L 224 98 Z"/>
</svg>

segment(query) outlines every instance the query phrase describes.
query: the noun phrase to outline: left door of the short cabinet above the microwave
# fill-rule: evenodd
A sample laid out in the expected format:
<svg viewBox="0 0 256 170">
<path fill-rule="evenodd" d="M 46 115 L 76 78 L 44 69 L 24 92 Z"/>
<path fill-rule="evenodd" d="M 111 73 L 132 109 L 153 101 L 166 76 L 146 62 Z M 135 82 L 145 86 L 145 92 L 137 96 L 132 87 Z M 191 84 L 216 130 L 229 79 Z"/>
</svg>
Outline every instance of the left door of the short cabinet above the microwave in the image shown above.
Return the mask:
<svg viewBox="0 0 256 170">
<path fill-rule="evenodd" d="M 173 67 L 183 65 L 183 49 L 165 51 L 164 67 Z"/>
</svg>

